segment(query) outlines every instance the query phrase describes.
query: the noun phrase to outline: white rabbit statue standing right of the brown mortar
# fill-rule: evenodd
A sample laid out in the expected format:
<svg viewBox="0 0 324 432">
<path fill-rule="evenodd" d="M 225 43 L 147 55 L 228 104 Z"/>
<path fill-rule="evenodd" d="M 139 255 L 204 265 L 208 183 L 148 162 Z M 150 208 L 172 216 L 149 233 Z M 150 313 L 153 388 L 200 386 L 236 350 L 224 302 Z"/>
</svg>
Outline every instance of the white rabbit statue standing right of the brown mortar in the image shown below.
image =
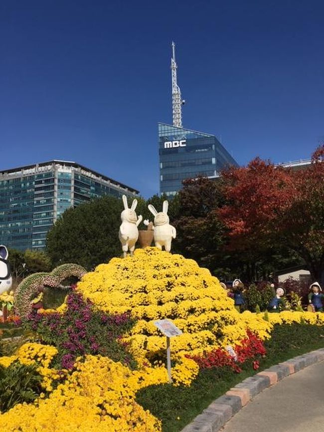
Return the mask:
<svg viewBox="0 0 324 432">
<path fill-rule="evenodd" d="M 164 249 L 169 252 L 171 249 L 172 238 L 176 236 L 176 230 L 174 226 L 169 224 L 169 216 L 167 216 L 168 202 L 163 201 L 162 212 L 158 213 L 152 204 L 148 206 L 150 212 L 154 215 L 154 242 L 156 247 L 162 250 Z M 149 224 L 148 220 L 145 220 L 146 225 Z"/>
</svg>

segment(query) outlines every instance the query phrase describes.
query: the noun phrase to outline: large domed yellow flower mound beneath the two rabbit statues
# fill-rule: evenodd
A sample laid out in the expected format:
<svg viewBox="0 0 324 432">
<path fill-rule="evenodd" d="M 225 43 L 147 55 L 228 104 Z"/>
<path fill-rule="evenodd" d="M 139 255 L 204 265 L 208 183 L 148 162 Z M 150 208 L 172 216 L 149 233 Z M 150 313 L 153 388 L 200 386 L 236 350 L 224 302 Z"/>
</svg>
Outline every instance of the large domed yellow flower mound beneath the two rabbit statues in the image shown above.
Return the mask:
<svg viewBox="0 0 324 432">
<path fill-rule="evenodd" d="M 124 338 L 140 364 L 154 362 L 165 352 L 165 337 L 154 325 L 170 319 L 183 334 L 171 339 L 177 379 L 193 378 L 198 368 L 184 359 L 218 347 L 238 344 L 250 327 L 209 270 L 192 259 L 155 247 L 136 249 L 133 257 L 113 258 L 83 276 L 77 289 L 102 310 L 128 312 L 138 318 Z M 271 324 L 253 318 L 252 330 L 265 338 Z M 177 381 L 177 380 L 175 380 Z"/>
</svg>

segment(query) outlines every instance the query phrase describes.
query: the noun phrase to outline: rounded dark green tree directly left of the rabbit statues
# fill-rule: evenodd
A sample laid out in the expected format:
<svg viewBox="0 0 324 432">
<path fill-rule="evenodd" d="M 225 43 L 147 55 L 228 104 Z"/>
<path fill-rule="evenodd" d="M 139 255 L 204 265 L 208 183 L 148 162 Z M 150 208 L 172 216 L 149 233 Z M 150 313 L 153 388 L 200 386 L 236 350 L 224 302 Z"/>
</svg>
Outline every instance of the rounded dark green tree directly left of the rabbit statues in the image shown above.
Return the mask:
<svg viewBox="0 0 324 432">
<path fill-rule="evenodd" d="M 122 200 L 109 196 L 66 210 L 47 234 L 46 252 L 53 265 L 74 262 L 91 270 L 119 256 L 123 210 Z"/>
</svg>

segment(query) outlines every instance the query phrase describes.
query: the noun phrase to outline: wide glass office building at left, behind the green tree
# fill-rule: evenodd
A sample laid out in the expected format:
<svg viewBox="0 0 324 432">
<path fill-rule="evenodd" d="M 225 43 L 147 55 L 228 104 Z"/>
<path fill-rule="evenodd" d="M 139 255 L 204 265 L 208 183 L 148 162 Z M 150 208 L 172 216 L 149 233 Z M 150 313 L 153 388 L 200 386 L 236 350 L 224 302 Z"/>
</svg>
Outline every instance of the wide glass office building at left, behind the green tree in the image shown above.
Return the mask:
<svg viewBox="0 0 324 432">
<path fill-rule="evenodd" d="M 139 191 L 75 162 L 54 160 L 0 171 L 0 244 L 41 250 L 47 231 L 66 209 L 123 194 L 135 197 Z"/>
</svg>

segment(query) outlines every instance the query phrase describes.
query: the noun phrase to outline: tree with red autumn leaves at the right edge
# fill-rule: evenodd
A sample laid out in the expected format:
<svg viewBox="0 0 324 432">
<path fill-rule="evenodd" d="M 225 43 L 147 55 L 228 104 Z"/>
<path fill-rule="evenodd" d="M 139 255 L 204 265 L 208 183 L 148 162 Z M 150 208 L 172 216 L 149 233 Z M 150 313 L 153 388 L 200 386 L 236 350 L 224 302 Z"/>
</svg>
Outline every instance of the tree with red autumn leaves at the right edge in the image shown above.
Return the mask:
<svg viewBox="0 0 324 432">
<path fill-rule="evenodd" d="M 227 205 L 219 216 L 232 248 L 265 250 L 284 243 L 324 282 L 324 146 L 312 164 L 293 171 L 253 160 L 223 173 Z"/>
</svg>

